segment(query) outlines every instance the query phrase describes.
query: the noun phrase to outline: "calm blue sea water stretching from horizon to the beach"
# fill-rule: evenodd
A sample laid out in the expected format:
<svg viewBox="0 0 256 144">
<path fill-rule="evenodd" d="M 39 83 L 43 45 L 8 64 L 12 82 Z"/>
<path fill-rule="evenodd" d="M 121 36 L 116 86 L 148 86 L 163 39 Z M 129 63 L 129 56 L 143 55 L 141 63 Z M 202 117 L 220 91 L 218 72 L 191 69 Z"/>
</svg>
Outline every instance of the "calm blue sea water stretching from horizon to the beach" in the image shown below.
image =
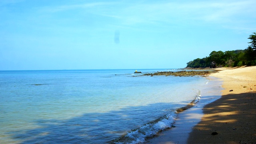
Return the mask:
<svg viewBox="0 0 256 144">
<path fill-rule="evenodd" d="M 145 142 L 210 81 L 139 71 L 0 71 L 0 143 Z"/>
</svg>

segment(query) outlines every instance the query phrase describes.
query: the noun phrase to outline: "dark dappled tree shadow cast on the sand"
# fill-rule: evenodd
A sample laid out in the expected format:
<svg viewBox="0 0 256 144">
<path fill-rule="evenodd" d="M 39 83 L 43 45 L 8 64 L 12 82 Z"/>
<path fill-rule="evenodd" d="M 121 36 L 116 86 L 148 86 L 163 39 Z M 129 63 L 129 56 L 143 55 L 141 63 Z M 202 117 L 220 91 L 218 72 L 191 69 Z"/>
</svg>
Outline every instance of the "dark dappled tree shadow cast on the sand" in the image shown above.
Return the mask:
<svg viewBox="0 0 256 144">
<path fill-rule="evenodd" d="M 227 94 L 204 107 L 188 144 L 256 143 L 256 92 Z"/>
</svg>

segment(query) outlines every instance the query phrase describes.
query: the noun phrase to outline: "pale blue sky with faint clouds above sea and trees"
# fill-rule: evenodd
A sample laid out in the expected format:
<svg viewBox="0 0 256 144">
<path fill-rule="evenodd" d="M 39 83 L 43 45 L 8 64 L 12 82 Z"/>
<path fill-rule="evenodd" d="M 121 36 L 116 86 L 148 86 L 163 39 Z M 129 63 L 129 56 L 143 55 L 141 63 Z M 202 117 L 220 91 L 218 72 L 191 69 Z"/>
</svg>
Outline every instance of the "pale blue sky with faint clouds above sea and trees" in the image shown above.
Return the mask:
<svg viewBox="0 0 256 144">
<path fill-rule="evenodd" d="M 256 0 L 0 0 L 0 70 L 184 68 L 244 50 Z"/>
</svg>

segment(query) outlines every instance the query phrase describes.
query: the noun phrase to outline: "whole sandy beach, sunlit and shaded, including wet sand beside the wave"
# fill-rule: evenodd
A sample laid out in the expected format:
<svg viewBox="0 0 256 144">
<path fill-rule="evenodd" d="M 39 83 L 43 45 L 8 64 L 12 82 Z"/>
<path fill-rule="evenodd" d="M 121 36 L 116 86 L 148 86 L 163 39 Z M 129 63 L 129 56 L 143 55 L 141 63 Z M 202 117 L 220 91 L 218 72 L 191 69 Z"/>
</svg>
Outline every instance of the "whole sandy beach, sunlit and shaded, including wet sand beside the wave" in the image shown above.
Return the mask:
<svg viewBox="0 0 256 144">
<path fill-rule="evenodd" d="M 256 66 L 217 70 L 211 76 L 223 81 L 221 98 L 203 95 L 196 106 L 178 114 L 175 128 L 149 139 L 149 144 L 256 143 Z M 205 104 L 207 98 L 214 102 Z"/>
</svg>

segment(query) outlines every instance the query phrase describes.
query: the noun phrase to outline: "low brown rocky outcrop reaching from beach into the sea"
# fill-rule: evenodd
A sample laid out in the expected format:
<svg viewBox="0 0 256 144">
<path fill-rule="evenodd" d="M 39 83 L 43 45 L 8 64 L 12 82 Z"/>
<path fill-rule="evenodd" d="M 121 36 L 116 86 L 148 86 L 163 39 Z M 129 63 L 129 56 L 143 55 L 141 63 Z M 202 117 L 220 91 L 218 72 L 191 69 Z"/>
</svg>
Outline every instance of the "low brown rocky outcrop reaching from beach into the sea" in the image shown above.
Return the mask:
<svg viewBox="0 0 256 144">
<path fill-rule="evenodd" d="M 144 76 L 208 76 L 216 71 L 179 71 L 179 72 L 156 72 L 154 74 L 144 74 Z"/>
</svg>

